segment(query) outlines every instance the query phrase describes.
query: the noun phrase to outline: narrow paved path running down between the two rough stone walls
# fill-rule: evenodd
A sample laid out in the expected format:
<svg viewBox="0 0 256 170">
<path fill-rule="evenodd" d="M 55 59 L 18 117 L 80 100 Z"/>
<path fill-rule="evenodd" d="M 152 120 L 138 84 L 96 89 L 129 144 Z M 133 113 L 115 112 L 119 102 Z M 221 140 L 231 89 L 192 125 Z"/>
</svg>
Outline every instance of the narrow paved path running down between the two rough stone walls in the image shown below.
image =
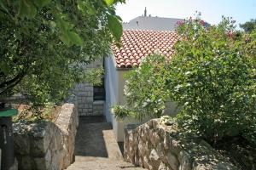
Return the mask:
<svg viewBox="0 0 256 170">
<path fill-rule="evenodd" d="M 111 124 L 101 116 L 80 117 L 75 162 L 67 170 L 131 169 L 143 170 L 123 161 Z"/>
</svg>

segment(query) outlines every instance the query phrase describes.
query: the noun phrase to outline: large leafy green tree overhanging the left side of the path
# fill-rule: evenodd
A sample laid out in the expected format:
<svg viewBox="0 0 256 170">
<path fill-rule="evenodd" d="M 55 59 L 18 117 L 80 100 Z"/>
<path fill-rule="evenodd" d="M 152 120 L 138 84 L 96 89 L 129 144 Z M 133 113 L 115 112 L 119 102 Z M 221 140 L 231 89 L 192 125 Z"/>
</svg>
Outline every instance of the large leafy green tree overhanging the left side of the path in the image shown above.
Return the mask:
<svg viewBox="0 0 256 170">
<path fill-rule="evenodd" d="M 119 2 L 0 0 L 0 96 L 20 93 L 37 105 L 65 98 L 89 78 L 83 65 L 119 42 Z"/>
</svg>

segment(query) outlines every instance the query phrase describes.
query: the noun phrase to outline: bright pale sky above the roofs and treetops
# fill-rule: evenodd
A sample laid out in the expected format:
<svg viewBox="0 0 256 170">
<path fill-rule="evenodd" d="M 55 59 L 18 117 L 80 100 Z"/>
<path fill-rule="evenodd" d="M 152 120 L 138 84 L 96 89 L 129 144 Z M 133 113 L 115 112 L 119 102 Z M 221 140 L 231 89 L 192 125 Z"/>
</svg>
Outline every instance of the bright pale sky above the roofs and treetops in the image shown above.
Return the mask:
<svg viewBox="0 0 256 170">
<path fill-rule="evenodd" d="M 256 19 L 256 0 L 126 0 L 119 3 L 116 13 L 128 22 L 141 16 L 147 7 L 152 16 L 185 19 L 201 12 L 201 19 L 218 24 L 222 15 L 233 17 L 237 24 Z"/>
</svg>

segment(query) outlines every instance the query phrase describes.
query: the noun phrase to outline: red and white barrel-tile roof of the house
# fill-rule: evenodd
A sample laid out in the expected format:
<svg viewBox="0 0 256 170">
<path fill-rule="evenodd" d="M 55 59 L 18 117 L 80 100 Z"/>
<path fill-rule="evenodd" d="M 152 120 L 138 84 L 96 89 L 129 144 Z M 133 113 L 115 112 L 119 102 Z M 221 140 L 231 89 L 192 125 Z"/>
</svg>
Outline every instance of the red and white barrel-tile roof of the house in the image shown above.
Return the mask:
<svg viewBox="0 0 256 170">
<path fill-rule="evenodd" d="M 154 51 L 165 54 L 167 58 L 173 54 L 173 45 L 177 42 L 174 31 L 141 31 L 124 30 L 121 37 L 122 46 L 112 46 L 118 68 L 131 68 L 140 64 L 141 59 Z"/>
</svg>

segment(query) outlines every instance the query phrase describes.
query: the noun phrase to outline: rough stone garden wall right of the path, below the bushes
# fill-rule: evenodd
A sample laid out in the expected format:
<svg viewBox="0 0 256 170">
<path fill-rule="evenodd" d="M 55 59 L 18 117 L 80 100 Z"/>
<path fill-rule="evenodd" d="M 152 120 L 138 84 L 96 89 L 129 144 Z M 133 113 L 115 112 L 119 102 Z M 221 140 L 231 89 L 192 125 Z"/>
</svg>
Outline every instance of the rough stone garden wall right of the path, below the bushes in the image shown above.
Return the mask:
<svg viewBox="0 0 256 170">
<path fill-rule="evenodd" d="M 204 140 L 183 139 L 159 119 L 125 129 L 125 161 L 149 170 L 236 170 Z"/>
</svg>

